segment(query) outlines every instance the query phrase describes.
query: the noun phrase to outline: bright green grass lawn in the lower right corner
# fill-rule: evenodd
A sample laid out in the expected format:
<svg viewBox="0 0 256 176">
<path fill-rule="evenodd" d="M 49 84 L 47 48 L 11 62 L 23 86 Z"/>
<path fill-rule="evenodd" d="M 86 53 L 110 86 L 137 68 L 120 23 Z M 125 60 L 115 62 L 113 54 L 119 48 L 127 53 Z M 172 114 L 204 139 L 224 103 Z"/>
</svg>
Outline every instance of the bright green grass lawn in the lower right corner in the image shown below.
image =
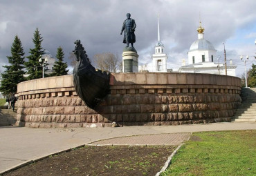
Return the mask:
<svg viewBox="0 0 256 176">
<path fill-rule="evenodd" d="M 193 133 L 161 175 L 256 175 L 256 130 Z"/>
</svg>

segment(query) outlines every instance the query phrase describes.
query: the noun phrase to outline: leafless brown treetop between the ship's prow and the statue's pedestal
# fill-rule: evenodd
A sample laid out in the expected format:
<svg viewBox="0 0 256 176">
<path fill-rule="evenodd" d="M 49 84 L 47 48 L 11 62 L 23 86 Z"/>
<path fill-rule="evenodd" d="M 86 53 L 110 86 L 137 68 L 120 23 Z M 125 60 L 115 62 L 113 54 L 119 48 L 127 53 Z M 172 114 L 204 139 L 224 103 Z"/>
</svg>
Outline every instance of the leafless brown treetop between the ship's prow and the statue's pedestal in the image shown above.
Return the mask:
<svg viewBox="0 0 256 176">
<path fill-rule="evenodd" d="M 122 61 L 120 61 L 118 54 L 113 55 L 111 52 L 96 54 L 93 56 L 95 67 L 108 72 L 118 72 L 122 70 Z"/>
</svg>

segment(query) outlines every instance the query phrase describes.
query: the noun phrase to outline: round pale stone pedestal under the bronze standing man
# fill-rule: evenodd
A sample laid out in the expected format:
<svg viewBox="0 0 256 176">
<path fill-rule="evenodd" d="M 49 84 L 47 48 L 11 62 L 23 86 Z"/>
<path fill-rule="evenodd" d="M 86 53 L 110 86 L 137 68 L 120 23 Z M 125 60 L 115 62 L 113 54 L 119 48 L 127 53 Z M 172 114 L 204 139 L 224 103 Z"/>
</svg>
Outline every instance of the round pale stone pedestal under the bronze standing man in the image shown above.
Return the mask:
<svg viewBox="0 0 256 176">
<path fill-rule="evenodd" d="M 133 47 L 122 51 L 122 72 L 138 72 L 138 54 Z"/>
</svg>

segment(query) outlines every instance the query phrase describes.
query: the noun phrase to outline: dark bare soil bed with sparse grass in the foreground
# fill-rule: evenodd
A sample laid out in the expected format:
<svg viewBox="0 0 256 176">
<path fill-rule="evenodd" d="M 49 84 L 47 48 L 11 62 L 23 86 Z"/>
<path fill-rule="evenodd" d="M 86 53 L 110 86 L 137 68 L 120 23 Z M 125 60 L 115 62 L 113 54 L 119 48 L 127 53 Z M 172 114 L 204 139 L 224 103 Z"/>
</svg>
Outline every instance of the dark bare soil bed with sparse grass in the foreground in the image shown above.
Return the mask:
<svg viewBox="0 0 256 176">
<path fill-rule="evenodd" d="M 5 175 L 156 175 L 176 146 L 84 146 Z"/>
</svg>

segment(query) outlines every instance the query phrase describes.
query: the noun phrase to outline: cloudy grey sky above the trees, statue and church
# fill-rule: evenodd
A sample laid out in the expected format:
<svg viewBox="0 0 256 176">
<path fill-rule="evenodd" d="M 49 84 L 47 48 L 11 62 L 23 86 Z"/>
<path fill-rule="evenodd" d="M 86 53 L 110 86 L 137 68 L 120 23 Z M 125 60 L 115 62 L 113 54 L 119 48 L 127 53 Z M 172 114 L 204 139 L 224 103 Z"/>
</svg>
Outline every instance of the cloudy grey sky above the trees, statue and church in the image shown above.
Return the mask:
<svg viewBox="0 0 256 176">
<path fill-rule="evenodd" d="M 196 28 L 201 22 L 204 37 L 223 55 L 225 42 L 227 60 L 237 65 L 237 76 L 244 72 L 240 55 L 249 55 L 247 67 L 256 52 L 256 1 L 253 0 L 1 0 L 0 1 L 0 71 L 8 64 L 15 35 L 24 47 L 25 56 L 34 48 L 36 28 L 43 37 L 42 47 L 53 57 L 61 46 L 68 53 L 80 39 L 89 58 L 102 52 L 117 53 L 120 58 L 125 43 L 120 30 L 127 12 L 136 21 L 136 43 L 139 65 L 149 63 L 157 41 L 157 14 L 160 20 L 161 41 L 168 56 L 167 68 L 179 68 L 182 59 L 197 39 Z M 223 62 L 221 57 L 220 61 Z M 254 61 L 255 63 L 256 61 Z"/>
</svg>

